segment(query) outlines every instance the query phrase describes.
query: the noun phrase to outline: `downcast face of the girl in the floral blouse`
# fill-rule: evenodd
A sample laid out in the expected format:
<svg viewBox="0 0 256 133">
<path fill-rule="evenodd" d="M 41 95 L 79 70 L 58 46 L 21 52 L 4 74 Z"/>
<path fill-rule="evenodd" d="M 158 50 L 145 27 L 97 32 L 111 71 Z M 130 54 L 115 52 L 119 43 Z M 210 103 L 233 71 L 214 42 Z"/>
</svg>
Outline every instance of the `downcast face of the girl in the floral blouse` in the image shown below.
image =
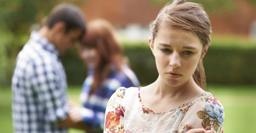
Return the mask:
<svg viewBox="0 0 256 133">
<path fill-rule="evenodd" d="M 200 39 L 193 33 L 175 28 L 160 28 L 150 48 L 156 59 L 157 71 L 168 86 L 178 87 L 192 78 L 202 60 L 203 48 Z"/>
</svg>

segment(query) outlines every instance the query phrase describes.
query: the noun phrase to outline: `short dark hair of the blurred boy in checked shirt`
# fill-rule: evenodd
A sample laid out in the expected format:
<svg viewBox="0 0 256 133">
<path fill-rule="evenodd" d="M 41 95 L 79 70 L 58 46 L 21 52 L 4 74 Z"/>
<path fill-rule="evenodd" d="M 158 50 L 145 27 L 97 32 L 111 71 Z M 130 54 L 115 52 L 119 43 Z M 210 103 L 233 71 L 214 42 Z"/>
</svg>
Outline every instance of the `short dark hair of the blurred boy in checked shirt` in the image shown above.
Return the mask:
<svg viewBox="0 0 256 133">
<path fill-rule="evenodd" d="M 82 12 L 75 5 L 62 3 L 54 7 L 47 17 L 45 25 L 52 28 L 58 22 L 65 23 L 65 32 L 81 29 L 85 33 L 85 19 Z"/>
</svg>

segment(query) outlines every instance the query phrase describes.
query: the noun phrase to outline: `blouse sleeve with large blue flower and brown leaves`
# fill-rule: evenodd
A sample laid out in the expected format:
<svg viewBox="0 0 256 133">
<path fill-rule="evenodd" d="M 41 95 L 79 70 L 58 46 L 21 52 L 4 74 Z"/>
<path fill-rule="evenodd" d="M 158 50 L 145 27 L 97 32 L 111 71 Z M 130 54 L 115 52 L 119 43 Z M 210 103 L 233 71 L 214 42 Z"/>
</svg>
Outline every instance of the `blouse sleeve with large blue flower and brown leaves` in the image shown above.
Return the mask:
<svg viewBox="0 0 256 133">
<path fill-rule="evenodd" d="M 178 133 L 186 133 L 195 128 L 223 133 L 223 121 L 224 109 L 221 103 L 214 96 L 201 98 L 187 110 L 178 126 Z"/>
</svg>

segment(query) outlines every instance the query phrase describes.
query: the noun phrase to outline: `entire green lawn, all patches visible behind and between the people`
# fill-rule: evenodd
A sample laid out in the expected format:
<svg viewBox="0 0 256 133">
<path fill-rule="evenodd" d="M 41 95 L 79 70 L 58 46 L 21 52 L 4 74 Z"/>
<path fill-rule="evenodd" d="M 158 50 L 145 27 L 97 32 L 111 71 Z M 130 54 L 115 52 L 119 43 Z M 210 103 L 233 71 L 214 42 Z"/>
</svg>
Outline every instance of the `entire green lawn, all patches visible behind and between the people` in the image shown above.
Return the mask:
<svg viewBox="0 0 256 133">
<path fill-rule="evenodd" d="M 210 91 L 224 106 L 224 133 L 253 133 L 256 123 L 256 86 L 209 85 Z M 79 102 L 80 87 L 70 87 L 69 98 Z M 11 90 L 0 89 L 1 133 L 12 133 Z M 69 133 L 83 133 L 70 129 Z"/>
</svg>

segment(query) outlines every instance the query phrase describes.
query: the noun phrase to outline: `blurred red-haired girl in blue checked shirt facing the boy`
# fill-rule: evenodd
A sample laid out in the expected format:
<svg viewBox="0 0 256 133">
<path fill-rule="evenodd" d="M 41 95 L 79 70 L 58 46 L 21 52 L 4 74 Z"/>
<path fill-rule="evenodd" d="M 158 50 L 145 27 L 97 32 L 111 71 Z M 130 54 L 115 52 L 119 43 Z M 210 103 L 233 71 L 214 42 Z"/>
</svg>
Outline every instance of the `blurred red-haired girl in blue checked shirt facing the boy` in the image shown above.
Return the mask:
<svg viewBox="0 0 256 133">
<path fill-rule="evenodd" d="M 92 132 L 102 133 L 110 96 L 118 87 L 139 87 L 139 81 L 126 64 L 114 28 L 106 20 L 88 23 L 79 56 L 89 71 L 80 95 L 83 107 L 71 105 L 70 116 L 74 122 L 85 123 Z"/>
</svg>

